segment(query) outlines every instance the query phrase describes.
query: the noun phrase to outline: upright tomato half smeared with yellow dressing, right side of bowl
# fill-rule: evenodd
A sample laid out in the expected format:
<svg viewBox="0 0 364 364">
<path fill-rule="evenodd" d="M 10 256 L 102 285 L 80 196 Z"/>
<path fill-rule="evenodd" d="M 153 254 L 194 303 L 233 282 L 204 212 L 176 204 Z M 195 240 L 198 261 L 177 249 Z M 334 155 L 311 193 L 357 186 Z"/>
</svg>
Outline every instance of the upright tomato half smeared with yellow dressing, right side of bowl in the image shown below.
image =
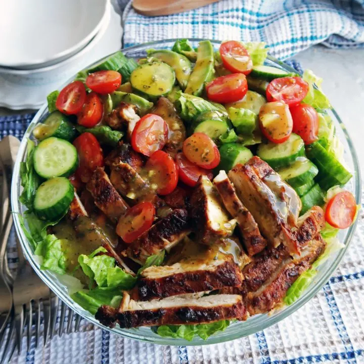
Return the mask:
<svg viewBox="0 0 364 364">
<path fill-rule="evenodd" d="M 288 105 L 278 101 L 264 104 L 259 111 L 259 126 L 268 141 L 277 144 L 285 142 L 293 128 Z"/>
</svg>

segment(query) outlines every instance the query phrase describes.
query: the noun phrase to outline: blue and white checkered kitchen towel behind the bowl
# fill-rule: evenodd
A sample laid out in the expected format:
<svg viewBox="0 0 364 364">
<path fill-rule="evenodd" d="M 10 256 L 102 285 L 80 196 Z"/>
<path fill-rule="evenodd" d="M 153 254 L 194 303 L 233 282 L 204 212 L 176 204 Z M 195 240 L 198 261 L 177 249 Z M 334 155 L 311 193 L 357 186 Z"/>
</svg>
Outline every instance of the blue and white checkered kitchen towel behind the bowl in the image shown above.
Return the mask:
<svg viewBox="0 0 364 364">
<path fill-rule="evenodd" d="M 125 7 L 125 0 L 118 0 Z M 364 47 L 364 0 L 222 0 L 161 17 L 124 12 L 124 47 L 167 38 L 265 41 L 271 55 L 292 57 L 312 44 Z"/>
</svg>

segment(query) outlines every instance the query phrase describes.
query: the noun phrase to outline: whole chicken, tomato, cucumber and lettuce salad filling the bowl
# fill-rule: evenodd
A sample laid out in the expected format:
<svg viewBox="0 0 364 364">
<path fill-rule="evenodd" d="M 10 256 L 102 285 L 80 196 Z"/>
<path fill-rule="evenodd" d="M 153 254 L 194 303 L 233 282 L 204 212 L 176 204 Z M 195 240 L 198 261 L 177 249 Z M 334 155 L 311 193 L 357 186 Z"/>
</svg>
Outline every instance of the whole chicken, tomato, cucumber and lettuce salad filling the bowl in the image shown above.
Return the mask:
<svg viewBox="0 0 364 364">
<path fill-rule="evenodd" d="M 206 339 L 299 298 L 357 213 L 322 79 L 264 43 L 117 52 L 48 96 L 22 228 L 104 325 Z"/>
</svg>

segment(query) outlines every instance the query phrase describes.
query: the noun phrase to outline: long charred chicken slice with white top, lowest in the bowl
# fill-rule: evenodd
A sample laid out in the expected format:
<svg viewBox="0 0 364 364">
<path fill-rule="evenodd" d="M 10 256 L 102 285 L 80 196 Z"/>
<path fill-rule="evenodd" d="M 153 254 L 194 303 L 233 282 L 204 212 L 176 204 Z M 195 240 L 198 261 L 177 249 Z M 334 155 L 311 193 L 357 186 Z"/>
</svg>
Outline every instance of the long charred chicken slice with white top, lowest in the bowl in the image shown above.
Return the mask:
<svg viewBox="0 0 364 364">
<path fill-rule="evenodd" d="M 155 325 L 207 324 L 220 320 L 246 320 L 247 312 L 240 295 L 212 295 L 199 298 L 184 296 L 161 300 L 134 301 L 123 293 L 118 310 L 101 306 L 96 319 L 109 327 L 121 328 Z"/>
</svg>

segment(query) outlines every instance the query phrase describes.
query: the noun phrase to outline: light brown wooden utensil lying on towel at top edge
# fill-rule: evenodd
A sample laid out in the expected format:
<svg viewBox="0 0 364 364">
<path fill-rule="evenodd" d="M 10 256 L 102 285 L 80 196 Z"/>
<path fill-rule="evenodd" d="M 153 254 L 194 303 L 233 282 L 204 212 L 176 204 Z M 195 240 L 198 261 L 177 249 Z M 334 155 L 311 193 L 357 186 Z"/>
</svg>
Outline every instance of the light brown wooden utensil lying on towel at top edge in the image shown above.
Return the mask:
<svg viewBox="0 0 364 364">
<path fill-rule="evenodd" d="M 142 15 L 160 16 L 200 8 L 216 1 L 218 0 L 133 0 L 133 8 Z"/>
</svg>

